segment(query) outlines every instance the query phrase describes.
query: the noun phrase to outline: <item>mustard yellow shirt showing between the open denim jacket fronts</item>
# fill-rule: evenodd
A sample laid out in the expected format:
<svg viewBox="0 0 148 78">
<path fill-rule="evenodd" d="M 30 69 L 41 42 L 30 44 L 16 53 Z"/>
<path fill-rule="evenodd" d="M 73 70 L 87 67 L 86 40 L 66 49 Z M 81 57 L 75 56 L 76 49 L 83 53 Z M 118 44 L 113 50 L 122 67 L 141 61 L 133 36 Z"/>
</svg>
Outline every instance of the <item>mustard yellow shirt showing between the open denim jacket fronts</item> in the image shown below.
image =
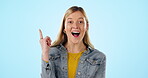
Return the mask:
<svg viewBox="0 0 148 78">
<path fill-rule="evenodd" d="M 68 52 L 68 78 L 75 78 L 79 59 L 84 51 L 79 53 Z"/>
</svg>

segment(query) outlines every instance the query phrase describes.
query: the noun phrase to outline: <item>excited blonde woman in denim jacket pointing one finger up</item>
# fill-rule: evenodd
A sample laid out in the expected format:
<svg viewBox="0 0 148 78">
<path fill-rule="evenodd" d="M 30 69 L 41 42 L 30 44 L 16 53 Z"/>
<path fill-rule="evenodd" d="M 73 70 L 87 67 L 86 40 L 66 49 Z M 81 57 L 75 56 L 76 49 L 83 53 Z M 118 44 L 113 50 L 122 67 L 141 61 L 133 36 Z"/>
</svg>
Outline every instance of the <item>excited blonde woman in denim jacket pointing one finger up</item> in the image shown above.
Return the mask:
<svg viewBox="0 0 148 78">
<path fill-rule="evenodd" d="M 81 7 L 69 8 L 57 40 L 43 38 L 42 78 L 105 78 L 105 55 L 94 49 L 88 36 L 89 22 Z"/>
</svg>

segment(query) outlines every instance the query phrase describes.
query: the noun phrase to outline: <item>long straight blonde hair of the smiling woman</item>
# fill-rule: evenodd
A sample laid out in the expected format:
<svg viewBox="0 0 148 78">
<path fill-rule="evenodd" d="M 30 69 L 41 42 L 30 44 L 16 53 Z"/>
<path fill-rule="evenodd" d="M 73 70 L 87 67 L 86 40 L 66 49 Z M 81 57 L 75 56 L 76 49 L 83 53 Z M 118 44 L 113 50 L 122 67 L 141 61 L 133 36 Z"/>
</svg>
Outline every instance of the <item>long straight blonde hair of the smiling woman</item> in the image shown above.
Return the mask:
<svg viewBox="0 0 148 78">
<path fill-rule="evenodd" d="M 61 27 L 60 27 L 60 30 L 59 30 L 57 39 L 51 44 L 51 47 L 57 46 L 57 45 L 59 45 L 59 44 L 61 44 L 61 43 L 64 45 L 64 44 L 67 42 L 67 35 L 64 33 L 65 20 L 66 20 L 66 18 L 67 18 L 70 14 L 72 14 L 72 13 L 74 13 L 74 12 L 76 12 L 76 11 L 80 11 L 80 12 L 84 15 L 84 17 L 85 17 L 85 19 L 86 19 L 86 22 L 87 22 L 87 24 L 88 24 L 88 19 L 87 19 L 87 17 L 86 17 L 86 13 L 85 13 L 85 11 L 83 10 L 82 7 L 78 7 L 78 6 L 72 6 L 72 7 L 70 7 L 70 8 L 66 11 L 66 13 L 65 13 L 65 15 L 64 15 L 64 17 L 63 17 L 62 25 L 61 25 Z M 94 48 L 94 46 L 93 46 L 93 45 L 91 44 L 91 42 L 90 42 L 89 35 L 88 35 L 88 30 L 86 31 L 86 33 L 85 33 L 85 35 L 84 35 L 83 43 L 85 44 L 86 47 L 90 46 L 91 48 Z"/>
</svg>

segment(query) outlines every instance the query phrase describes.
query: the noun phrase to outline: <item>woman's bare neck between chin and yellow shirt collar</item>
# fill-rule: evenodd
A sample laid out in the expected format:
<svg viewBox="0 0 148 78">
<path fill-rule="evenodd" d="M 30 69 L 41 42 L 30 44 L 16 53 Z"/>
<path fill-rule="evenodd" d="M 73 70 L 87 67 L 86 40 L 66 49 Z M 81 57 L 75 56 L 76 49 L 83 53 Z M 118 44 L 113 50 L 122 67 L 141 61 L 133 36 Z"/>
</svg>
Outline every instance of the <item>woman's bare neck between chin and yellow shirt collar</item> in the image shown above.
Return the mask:
<svg viewBox="0 0 148 78">
<path fill-rule="evenodd" d="M 79 53 L 79 52 L 86 50 L 86 46 L 84 45 L 83 42 L 80 42 L 80 43 L 67 42 L 65 44 L 65 47 L 67 48 L 68 52 L 70 52 L 70 53 Z"/>
</svg>

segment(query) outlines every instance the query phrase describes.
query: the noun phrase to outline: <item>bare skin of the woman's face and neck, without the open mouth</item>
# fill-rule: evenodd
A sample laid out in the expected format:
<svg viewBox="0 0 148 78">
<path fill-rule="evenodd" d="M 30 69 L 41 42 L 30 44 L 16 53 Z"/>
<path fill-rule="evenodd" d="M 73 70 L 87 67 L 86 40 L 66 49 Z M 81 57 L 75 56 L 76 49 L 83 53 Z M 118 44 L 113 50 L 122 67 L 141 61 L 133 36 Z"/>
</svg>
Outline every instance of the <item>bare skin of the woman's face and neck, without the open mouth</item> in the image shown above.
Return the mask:
<svg viewBox="0 0 148 78">
<path fill-rule="evenodd" d="M 66 18 L 64 31 L 68 37 L 68 42 L 65 45 L 68 52 L 79 53 L 86 49 L 83 38 L 87 29 L 88 24 L 80 11 L 76 11 Z M 71 32 L 80 32 L 80 35 L 74 37 Z"/>
</svg>

